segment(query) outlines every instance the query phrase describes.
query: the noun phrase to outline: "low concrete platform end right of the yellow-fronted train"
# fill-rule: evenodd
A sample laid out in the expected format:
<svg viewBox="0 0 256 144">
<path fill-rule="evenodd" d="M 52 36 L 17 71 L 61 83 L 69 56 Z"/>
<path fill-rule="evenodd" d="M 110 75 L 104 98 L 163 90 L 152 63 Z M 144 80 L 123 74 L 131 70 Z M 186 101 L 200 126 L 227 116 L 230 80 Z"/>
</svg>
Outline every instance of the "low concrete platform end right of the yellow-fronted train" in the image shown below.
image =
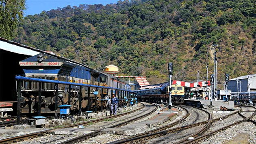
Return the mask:
<svg viewBox="0 0 256 144">
<path fill-rule="evenodd" d="M 185 105 L 195 106 L 197 108 L 206 108 L 206 109 L 219 109 L 221 106 L 228 109 L 234 109 L 234 101 L 225 102 L 223 100 L 213 100 L 213 107 L 210 107 L 210 100 L 191 100 L 185 99 Z"/>
</svg>

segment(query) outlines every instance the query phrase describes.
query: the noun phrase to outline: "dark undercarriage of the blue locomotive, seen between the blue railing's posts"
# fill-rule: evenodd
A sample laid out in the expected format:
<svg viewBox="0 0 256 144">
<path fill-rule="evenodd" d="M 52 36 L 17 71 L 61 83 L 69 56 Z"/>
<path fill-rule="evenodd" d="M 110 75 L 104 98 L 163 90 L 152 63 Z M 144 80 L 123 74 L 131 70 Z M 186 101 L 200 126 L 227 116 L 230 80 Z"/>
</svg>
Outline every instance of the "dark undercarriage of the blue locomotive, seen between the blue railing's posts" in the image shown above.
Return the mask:
<svg viewBox="0 0 256 144">
<path fill-rule="evenodd" d="M 69 104 L 68 103 L 68 92 L 58 91 L 58 100 L 57 105 Z M 35 96 L 37 95 L 37 96 Z M 41 94 L 41 113 L 55 113 L 55 91 L 42 91 Z M 99 95 L 96 96 L 97 99 L 100 99 Z M 90 92 L 90 108 L 89 110 L 95 110 L 95 103 L 97 103 L 97 110 L 100 109 L 100 101 L 96 101 L 95 95 Z M 22 93 L 21 103 L 22 103 L 22 113 L 37 113 L 39 102 L 38 91 L 29 92 L 26 91 Z M 78 113 L 79 110 L 79 90 L 72 90 L 70 96 L 70 112 Z M 81 95 L 81 110 L 86 111 L 88 105 L 88 92 L 82 90 Z M 105 104 L 103 104 L 105 105 Z M 59 112 L 59 109 L 58 109 Z"/>
</svg>

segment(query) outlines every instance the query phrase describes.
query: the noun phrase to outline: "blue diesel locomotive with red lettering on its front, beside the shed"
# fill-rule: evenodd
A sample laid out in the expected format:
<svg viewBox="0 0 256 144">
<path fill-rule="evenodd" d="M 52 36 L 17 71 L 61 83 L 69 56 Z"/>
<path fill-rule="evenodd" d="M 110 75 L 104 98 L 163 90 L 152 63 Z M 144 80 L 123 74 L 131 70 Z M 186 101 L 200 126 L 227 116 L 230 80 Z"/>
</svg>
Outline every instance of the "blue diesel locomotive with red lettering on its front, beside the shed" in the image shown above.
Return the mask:
<svg viewBox="0 0 256 144">
<path fill-rule="evenodd" d="M 130 90 L 131 88 L 124 80 L 54 54 L 40 53 L 20 61 L 20 66 L 25 76 L 30 78 L 114 87 L 124 90 Z M 22 113 L 36 112 L 37 109 L 35 107 L 38 103 L 37 95 L 39 91 L 38 83 L 39 82 L 34 81 L 23 81 L 21 100 Z M 56 89 L 58 89 L 59 93 L 58 100 L 55 100 Z M 59 84 L 58 87 L 56 87 L 56 85 L 52 83 L 43 83 L 41 90 L 41 113 L 54 113 L 56 102 L 58 105 L 69 104 L 68 91 L 69 87 L 67 85 Z M 73 111 L 78 110 L 79 107 L 79 91 L 79 87 L 76 86 L 72 86 L 70 89 L 71 98 L 69 105 L 71 105 L 70 109 Z M 111 95 L 111 92 L 117 94 L 117 91 L 111 91 L 111 89 L 107 91 L 107 89 L 88 89 L 88 87 L 82 87 L 81 91 L 81 108 L 86 110 L 88 109 L 87 107 L 95 110 L 95 106 L 100 106 L 100 102 L 96 99 L 102 99 L 102 95 L 105 97 Z M 93 93 L 94 91 L 98 91 L 96 97 L 94 95 L 95 93 Z M 90 106 L 87 106 L 88 100 L 90 101 Z"/>
</svg>

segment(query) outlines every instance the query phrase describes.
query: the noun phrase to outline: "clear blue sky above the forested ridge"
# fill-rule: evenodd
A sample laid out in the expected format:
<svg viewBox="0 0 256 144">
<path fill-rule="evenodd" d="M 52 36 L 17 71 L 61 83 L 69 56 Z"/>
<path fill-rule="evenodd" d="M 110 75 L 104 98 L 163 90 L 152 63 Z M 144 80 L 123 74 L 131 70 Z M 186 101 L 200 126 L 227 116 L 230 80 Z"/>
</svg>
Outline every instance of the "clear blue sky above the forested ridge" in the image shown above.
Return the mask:
<svg viewBox="0 0 256 144">
<path fill-rule="evenodd" d="M 57 9 L 58 7 L 63 8 L 68 5 L 79 6 L 80 4 L 106 4 L 117 3 L 119 0 L 26 0 L 26 15 L 39 14 L 42 11 L 50 11 Z M 124 0 L 122 0 L 124 1 Z"/>
</svg>

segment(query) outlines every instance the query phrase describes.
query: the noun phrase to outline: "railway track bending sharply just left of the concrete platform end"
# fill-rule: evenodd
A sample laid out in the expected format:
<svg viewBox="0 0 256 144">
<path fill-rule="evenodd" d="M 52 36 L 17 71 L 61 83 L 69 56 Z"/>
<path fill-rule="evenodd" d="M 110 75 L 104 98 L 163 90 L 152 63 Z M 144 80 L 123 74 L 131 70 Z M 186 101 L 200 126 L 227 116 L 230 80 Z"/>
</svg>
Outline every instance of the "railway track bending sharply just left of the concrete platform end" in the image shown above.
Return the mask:
<svg viewBox="0 0 256 144">
<path fill-rule="evenodd" d="M 158 129 L 141 133 L 140 135 L 132 136 L 129 138 L 117 140 L 115 142 L 110 142 L 108 144 L 168 143 L 168 142 L 174 142 L 174 140 L 176 140 L 176 142 L 179 142 L 181 140 L 178 139 L 178 137 L 180 137 L 181 135 L 183 135 L 184 137 L 189 137 L 192 131 L 198 131 L 198 129 L 202 129 L 202 127 L 204 127 L 204 125 L 207 125 L 207 123 L 209 123 L 209 120 L 211 119 L 211 114 L 205 110 L 189 107 L 189 106 L 182 106 L 182 108 L 187 112 L 186 116 L 182 117 L 182 119 L 174 121 L 168 125 L 164 125 L 163 127 L 160 127 Z M 206 114 L 202 114 L 202 111 L 204 111 L 204 113 Z M 199 117 L 201 118 L 198 119 Z M 198 121 L 196 119 L 198 119 Z M 195 121 L 197 123 L 195 123 Z M 189 123 L 193 123 L 193 124 L 189 124 Z M 187 129 L 191 129 L 191 131 L 189 132 L 187 131 Z"/>
</svg>

